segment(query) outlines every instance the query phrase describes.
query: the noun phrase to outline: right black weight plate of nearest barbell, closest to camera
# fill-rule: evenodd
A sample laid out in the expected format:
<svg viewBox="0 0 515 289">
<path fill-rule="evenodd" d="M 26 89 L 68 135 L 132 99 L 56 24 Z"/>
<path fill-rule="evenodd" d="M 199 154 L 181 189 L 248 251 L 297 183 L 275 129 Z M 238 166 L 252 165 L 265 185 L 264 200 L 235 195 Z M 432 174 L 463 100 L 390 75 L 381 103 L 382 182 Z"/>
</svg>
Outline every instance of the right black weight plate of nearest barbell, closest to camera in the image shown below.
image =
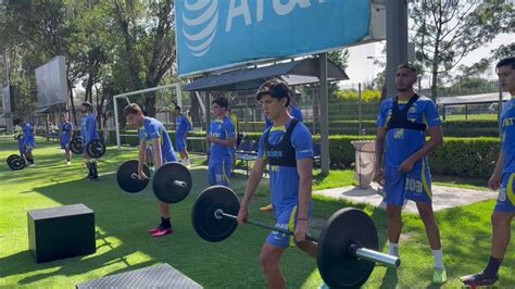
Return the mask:
<svg viewBox="0 0 515 289">
<path fill-rule="evenodd" d="M 342 209 L 326 222 L 318 239 L 318 272 L 329 288 L 359 288 L 370 276 L 375 263 L 356 260 L 349 246 L 378 250 L 374 221 L 357 209 Z"/>
</svg>

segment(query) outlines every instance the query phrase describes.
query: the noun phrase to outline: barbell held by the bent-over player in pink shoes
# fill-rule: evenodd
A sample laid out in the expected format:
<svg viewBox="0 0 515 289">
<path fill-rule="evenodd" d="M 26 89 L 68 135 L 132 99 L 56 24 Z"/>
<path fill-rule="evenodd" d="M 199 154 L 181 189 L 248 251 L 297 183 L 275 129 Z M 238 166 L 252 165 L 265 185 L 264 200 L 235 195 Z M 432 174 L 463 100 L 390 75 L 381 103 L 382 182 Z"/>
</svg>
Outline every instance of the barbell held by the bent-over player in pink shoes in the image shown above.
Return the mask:
<svg viewBox="0 0 515 289">
<path fill-rule="evenodd" d="M 143 164 L 143 173 L 150 176 L 150 169 Z M 116 172 L 120 187 L 130 193 L 143 190 L 150 183 L 149 179 L 138 178 L 138 161 L 131 160 L 123 163 Z M 164 203 L 183 201 L 191 191 L 191 174 L 186 166 L 172 162 L 163 164 L 152 177 L 152 189 L 155 197 Z"/>
</svg>

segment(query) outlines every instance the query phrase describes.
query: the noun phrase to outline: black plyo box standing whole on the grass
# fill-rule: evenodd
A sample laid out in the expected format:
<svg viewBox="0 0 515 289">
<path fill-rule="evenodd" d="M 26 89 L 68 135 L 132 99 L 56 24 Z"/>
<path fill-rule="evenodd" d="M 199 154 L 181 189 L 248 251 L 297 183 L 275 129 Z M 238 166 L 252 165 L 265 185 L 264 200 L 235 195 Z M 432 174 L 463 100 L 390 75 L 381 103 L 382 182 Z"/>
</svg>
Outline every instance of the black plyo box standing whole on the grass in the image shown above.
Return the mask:
<svg viewBox="0 0 515 289">
<path fill-rule="evenodd" d="M 27 212 L 28 248 L 37 263 L 92 254 L 95 213 L 84 204 Z"/>
</svg>

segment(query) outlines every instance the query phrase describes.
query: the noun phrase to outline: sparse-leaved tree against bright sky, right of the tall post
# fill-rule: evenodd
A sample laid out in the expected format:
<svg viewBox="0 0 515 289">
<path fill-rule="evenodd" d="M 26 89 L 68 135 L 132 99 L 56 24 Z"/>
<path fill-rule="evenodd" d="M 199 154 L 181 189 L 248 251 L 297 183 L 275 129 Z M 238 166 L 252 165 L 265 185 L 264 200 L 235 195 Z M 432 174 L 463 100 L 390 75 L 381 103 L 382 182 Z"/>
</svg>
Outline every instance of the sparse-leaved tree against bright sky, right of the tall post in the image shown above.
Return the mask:
<svg viewBox="0 0 515 289">
<path fill-rule="evenodd" d="M 445 76 L 470 51 L 514 24 L 513 5 L 505 0 L 423 0 L 411 9 L 411 40 L 416 59 L 430 74 L 431 98 Z"/>
</svg>

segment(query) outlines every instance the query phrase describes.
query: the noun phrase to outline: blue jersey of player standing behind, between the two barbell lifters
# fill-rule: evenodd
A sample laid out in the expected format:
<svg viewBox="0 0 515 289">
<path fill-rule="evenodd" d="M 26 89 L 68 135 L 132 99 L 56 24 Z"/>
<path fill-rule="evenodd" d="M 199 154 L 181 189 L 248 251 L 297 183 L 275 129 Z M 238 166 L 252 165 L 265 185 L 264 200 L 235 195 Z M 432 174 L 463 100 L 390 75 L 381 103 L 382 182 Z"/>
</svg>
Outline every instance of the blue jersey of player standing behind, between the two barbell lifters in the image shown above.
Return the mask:
<svg viewBox="0 0 515 289">
<path fill-rule="evenodd" d="M 209 134 L 219 139 L 235 139 L 235 124 L 228 116 L 214 120 L 211 122 Z M 211 142 L 210 163 L 223 163 L 227 156 L 229 156 L 229 147 Z"/>
</svg>

